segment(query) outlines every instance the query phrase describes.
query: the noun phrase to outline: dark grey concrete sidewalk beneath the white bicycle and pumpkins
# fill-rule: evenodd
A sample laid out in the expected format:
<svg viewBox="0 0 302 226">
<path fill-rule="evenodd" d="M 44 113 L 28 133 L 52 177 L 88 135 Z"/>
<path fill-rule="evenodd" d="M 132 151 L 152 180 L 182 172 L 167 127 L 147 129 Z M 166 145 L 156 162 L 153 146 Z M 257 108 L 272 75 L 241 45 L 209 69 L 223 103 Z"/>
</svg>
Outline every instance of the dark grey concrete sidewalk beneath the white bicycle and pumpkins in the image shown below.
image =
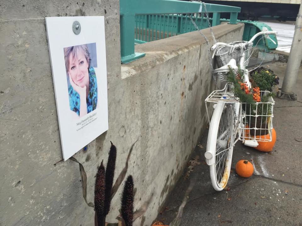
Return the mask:
<svg viewBox="0 0 302 226">
<path fill-rule="evenodd" d="M 263 65 L 274 71 L 282 86 L 286 63 Z M 270 153 L 236 144 L 232 158 L 229 191 L 212 188 L 209 166 L 204 162 L 207 132 L 200 140 L 192 158 L 199 155 L 200 165 L 194 166 L 187 180 L 187 169 L 171 191 L 157 220 L 169 224 L 175 218 L 189 181 L 197 181 L 184 209 L 183 226 L 199 225 L 302 225 L 302 67 L 295 93 L 297 101 L 275 98 L 273 126 L 277 141 Z M 203 148 L 202 148 L 203 147 Z M 254 175 L 239 177 L 235 164 L 240 159 L 253 160 Z M 231 198 L 231 199 L 229 199 Z"/>
</svg>

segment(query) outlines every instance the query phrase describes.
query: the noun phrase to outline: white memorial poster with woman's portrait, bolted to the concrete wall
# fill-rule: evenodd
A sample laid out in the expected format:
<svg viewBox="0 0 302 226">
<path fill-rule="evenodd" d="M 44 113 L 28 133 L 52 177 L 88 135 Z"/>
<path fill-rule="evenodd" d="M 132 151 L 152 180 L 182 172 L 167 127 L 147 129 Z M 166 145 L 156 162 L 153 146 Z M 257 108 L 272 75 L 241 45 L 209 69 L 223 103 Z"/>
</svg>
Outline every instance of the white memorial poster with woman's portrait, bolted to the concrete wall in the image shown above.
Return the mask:
<svg viewBox="0 0 302 226">
<path fill-rule="evenodd" d="M 104 17 L 45 20 L 66 161 L 108 130 Z"/>
</svg>

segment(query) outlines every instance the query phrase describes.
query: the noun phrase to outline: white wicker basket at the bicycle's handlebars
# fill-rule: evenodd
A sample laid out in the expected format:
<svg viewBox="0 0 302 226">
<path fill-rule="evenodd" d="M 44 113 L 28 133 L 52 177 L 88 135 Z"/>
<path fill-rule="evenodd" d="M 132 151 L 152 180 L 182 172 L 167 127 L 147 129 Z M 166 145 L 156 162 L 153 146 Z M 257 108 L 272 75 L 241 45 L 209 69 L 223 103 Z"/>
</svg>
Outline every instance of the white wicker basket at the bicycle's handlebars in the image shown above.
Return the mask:
<svg viewBox="0 0 302 226">
<path fill-rule="evenodd" d="M 236 45 L 239 43 L 247 43 L 247 41 L 235 41 L 235 42 L 230 43 L 230 45 Z M 244 55 L 244 66 L 245 67 L 247 67 L 249 64 L 249 57 L 251 54 L 252 46 L 253 46 L 253 43 L 250 43 L 249 46 L 245 50 L 243 50 L 243 52 L 245 54 Z M 242 50 L 240 48 L 236 48 L 234 51 L 231 52 L 231 47 L 229 47 L 229 46 L 219 47 L 217 49 L 217 51 L 215 52 L 215 59 L 216 59 L 218 68 L 226 65 L 228 62 L 230 62 L 231 59 L 235 59 L 236 64 L 239 65 L 241 54 L 242 54 L 241 51 Z"/>
</svg>

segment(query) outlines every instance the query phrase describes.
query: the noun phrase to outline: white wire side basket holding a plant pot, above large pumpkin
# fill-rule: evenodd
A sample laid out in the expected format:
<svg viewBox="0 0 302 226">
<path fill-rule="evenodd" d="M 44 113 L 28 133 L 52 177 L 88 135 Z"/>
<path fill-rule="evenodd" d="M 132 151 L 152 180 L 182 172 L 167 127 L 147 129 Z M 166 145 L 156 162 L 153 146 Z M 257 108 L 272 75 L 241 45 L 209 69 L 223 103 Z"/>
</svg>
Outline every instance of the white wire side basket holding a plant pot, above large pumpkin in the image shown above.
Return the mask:
<svg viewBox="0 0 302 226">
<path fill-rule="evenodd" d="M 240 103 L 239 140 L 271 141 L 275 101 L 269 91 L 260 91 L 260 96 L 266 101 L 255 104 Z M 265 96 L 267 97 L 264 98 Z"/>
</svg>

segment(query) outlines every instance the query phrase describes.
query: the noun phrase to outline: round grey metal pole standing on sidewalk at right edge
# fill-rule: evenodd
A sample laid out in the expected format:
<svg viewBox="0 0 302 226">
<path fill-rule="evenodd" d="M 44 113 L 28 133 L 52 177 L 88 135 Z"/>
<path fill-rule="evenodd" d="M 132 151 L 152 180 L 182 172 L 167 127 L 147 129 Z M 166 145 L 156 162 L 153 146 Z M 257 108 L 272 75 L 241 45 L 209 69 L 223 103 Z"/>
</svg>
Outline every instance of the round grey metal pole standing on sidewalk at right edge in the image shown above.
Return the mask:
<svg viewBox="0 0 302 226">
<path fill-rule="evenodd" d="M 290 100 L 297 100 L 293 87 L 297 81 L 298 71 L 302 60 L 302 3 L 296 20 L 294 39 L 290 48 L 286 72 L 281 89 L 281 96 Z"/>
</svg>

